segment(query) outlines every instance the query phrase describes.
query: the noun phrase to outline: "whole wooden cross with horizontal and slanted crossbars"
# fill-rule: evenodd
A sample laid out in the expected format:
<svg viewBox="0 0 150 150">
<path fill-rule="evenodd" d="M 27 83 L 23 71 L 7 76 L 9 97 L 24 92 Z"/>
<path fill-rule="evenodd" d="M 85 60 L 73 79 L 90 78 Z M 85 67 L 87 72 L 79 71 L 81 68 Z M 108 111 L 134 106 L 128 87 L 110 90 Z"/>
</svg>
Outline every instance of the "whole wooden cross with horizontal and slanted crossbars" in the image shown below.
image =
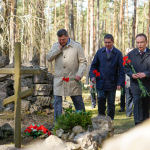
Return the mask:
<svg viewBox="0 0 150 150">
<path fill-rule="evenodd" d="M 21 68 L 21 43 L 15 43 L 15 68 L 0 68 L 0 74 L 14 74 L 15 95 L 3 100 L 3 105 L 15 103 L 15 147 L 21 147 L 21 98 L 25 98 L 33 93 L 33 88 L 21 91 L 21 74 L 40 74 L 40 69 Z"/>
</svg>

